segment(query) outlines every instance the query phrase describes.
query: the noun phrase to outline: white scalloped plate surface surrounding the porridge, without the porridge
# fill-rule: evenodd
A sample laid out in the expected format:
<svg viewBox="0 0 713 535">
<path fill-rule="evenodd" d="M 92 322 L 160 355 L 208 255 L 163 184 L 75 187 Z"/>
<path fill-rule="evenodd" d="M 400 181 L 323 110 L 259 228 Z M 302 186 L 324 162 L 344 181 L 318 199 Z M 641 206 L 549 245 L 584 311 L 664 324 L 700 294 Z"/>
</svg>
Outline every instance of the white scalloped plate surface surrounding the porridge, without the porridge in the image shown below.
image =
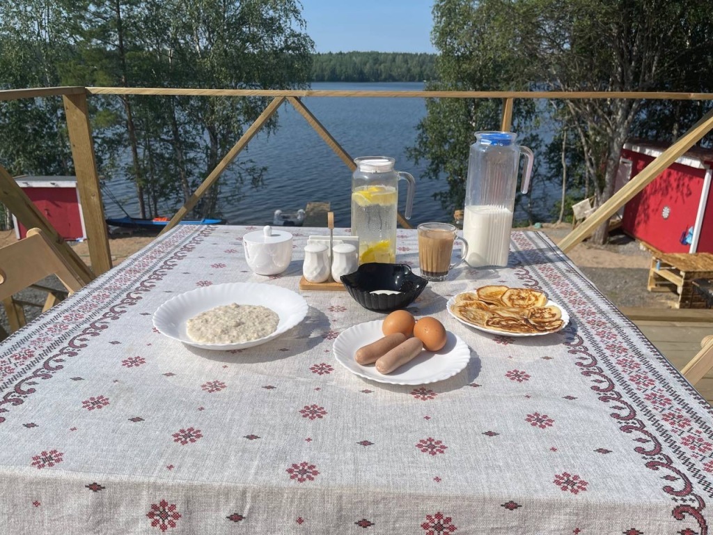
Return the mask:
<svg viewBox="0 0 713 535">
<path fill-rule="evenodd" d="M 236 344 L 204 344 L 195 342 L 185 332 L 185 322 L 200 312 L 205 312 L 221 305 L 262 305 L 279 315 L 277 329 L 272 334 L 250 342 Z M 245 347 L 264 344 L 282 335 L 307 315 L 307 301 L 301 295 L 279 286 L 261 282 L 230 282 L 213 286 L 200 287 L 190 292 L 176 295 L 158 307 L 153 314 L 153 326 L 158 331 L 193 347 L 204 350 L 240 350 Z"/>
</svg>

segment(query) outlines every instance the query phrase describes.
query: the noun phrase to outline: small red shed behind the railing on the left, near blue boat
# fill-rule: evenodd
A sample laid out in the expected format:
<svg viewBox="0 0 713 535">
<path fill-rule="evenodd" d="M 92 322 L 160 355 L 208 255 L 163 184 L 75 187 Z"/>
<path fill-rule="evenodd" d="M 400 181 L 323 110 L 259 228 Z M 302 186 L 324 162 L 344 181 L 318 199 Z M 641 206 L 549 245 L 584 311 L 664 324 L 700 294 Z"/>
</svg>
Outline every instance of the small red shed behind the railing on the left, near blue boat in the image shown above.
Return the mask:
<svg viewBox="0 0 713 535">
<path fill-rule="evenodd" d="M 82 206 L 75 176 L 29 176 L 15 178 L 18 185 L 65 240 L 86 238 Z M 27 229 L 13 215 L 15 235 L 25 237 Z"/>
</svg>

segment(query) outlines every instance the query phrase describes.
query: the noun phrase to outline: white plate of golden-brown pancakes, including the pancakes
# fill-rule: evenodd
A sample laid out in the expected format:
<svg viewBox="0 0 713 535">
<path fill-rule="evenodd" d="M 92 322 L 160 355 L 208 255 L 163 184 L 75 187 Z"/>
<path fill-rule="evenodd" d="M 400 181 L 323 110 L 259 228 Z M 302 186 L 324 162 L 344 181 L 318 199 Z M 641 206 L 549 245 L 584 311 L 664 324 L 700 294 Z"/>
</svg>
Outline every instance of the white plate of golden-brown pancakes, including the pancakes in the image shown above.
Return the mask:
<svg viewBox="0 0 713 535">
<path fill-rule="evenodd" d="M 459 322 L 495 335 L 548 335 L 570 321 L 566 310 L 533 288 L 481 286 L 454 295 L 446 307 Z"/>
</svg>

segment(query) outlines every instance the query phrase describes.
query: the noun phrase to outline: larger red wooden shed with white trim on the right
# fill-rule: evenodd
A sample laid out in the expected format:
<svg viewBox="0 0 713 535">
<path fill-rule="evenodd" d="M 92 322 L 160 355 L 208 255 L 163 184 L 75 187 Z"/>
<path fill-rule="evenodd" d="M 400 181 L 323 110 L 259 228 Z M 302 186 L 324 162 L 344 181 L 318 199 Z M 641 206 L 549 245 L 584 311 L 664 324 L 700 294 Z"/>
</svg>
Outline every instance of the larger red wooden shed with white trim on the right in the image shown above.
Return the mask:
<svg viewBox="0 0 713 535">
<path fill-rule="evenodd" d="M 619 173 L 633 178 L 668 147 L 631 141 Z M 663 253 L 713 253 L 713 151 L 692 148 L 624 208 L 623 230 Z"/>
</svg>

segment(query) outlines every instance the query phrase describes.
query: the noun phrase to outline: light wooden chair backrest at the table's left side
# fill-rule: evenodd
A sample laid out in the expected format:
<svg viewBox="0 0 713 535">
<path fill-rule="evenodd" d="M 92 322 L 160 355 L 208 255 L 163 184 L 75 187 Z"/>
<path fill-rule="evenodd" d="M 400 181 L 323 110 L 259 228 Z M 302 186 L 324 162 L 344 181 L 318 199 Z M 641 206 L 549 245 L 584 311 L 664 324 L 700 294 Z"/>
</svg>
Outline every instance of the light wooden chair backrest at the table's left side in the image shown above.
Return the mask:
<svg viewBox="0 0 713 535">
<path fill-rule="evenodd" d="M 28 230 L 23 240 L 0 248 L 0 300 L 48 275 L 57 275 L 69 292 L 84 285 L 82 277 L 38 228 Z"/>
</svg>

